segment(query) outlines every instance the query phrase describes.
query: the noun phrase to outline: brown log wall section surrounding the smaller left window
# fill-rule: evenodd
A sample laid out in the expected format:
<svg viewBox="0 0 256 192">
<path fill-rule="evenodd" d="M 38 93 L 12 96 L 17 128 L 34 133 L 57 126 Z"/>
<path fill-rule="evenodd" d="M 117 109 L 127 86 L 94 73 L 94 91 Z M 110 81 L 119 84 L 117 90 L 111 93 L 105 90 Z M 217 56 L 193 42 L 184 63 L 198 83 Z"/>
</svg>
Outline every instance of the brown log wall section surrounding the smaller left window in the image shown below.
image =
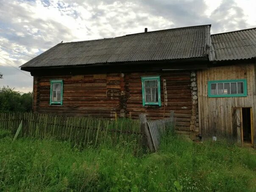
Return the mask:
<svg viewBox="0 0 256 192">
<path fill-rule="evenodd" d="M 120 112 L 120 74 L 63 75 L 34 78 L 34 111 L 114 118 Z M 62 79 L 63 105 L 50 106 L 50 80 Z"/>
</svg>

